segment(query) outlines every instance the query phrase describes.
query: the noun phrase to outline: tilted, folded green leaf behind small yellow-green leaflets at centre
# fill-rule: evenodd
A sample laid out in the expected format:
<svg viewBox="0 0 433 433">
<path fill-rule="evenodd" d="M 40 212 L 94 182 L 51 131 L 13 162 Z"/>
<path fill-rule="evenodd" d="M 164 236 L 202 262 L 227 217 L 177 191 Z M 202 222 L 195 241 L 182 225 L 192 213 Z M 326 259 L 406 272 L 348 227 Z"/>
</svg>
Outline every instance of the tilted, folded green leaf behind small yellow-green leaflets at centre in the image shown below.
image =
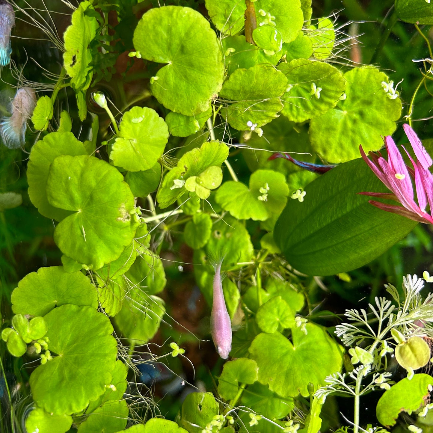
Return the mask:
<svg viewBox="0 0 433 433">
<path fill-rule="evenodd" d="M 185 153 L 178 161 L 178 165 L 165 175 L 156 198 L 159 207 L 165 208 L 174 203 L 185 192 L 185 181 L 192 176 L 200 176 L 210 167 L 219 168 L 229 155 L 229 148 L 220 142 L 204 142 L 200 148 Z M 210 172 L 212 174 L 212 172 Z M 213 173 L 215 174 L 215 173 Z M 205 175 L 205 178 L 207 176 Z M 215 177 L 213 176 L 213 183 Z M 219 185 L 210 185 L 218 187 Z M 209 188 L 207 188 L 209 189 Z"/>
</svg>

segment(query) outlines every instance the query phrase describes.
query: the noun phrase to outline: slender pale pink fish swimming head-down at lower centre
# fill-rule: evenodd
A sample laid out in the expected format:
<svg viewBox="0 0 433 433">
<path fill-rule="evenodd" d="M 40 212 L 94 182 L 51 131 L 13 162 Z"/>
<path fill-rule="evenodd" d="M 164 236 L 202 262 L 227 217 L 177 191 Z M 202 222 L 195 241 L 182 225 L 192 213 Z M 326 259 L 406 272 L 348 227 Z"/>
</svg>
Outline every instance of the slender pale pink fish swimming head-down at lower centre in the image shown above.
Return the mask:
<svg viewBox="0 0 433 433">
<path fill-rule="evenodd" d="M 221 265 L 223 259 L 215 267 L 213 277 L 213 304 L 210 313 L 210 330 L 216 351 L 221 358 L 227 359 L 232 349 L 232 322 L 224 300 L 221 280 Z"/>
</svg>

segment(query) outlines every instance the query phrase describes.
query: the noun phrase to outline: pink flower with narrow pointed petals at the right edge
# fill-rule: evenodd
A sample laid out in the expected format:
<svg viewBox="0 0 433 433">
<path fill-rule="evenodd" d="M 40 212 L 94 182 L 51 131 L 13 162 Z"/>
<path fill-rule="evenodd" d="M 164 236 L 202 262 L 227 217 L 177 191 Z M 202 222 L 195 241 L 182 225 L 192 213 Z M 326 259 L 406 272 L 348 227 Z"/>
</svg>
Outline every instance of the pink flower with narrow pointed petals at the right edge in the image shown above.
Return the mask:
<svg viewBox="0 0 433 433">
<path fill-rule="evenodd" d="M 392 193 L 360 192 L 358 194 L 395 200 L 402 204 L 403 207 L 385 204 L 375 200 L 369 200 L 368 203 L 379 209 L 398 213 L 399 215 L 406 216 L 420 223 L 433 224 L 433 218 L 431 216 L 433 210 L 433 176 L 428 169 L 430 165 L 433 164 L 433 161 L 426 149 L 424 149 L 414 130 L 407 124 L 404 124 L 403 128 L 417 158 L 415 162 L 407 150 L 404 149 L 404 146 L 402 146 L 413 168 L 406 166 L 391 136 L 385 137 L 388 161 L 382 158 L 380 152 L 379 156 L 375 155 L 373 152 L 368 152 L 372 158 L 372 160 L 370 160 L 367 155 L 365 155 L 362 146 L 359 146 L 359 151 L 364 161 Z M 414 200 L 412 179 L 415 181 L 418 203 Z M 426 212 L 427 204 L 430 205 L 430 213 Z"/>
</svg>

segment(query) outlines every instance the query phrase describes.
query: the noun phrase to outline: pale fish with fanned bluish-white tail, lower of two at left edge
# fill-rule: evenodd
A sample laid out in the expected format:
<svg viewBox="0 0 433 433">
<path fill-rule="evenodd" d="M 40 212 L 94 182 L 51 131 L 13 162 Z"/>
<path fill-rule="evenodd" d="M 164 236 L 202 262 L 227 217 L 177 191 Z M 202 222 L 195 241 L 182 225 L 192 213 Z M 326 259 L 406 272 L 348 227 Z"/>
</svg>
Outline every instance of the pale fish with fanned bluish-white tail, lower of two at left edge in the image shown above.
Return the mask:
<svg viewBox="0 0 433 433">
<path fill-rule="evenodd" d="M 1 0 L 0 0 L 1 1 Z M 27 120 L 32 117 L 36 107 L 36 93 L 30 87 L 17 90 L 10 103 L 10 117 L 0 123 L 0 136 L 9 149 L 16 149 L 26 142 Z"/>
</svg>

